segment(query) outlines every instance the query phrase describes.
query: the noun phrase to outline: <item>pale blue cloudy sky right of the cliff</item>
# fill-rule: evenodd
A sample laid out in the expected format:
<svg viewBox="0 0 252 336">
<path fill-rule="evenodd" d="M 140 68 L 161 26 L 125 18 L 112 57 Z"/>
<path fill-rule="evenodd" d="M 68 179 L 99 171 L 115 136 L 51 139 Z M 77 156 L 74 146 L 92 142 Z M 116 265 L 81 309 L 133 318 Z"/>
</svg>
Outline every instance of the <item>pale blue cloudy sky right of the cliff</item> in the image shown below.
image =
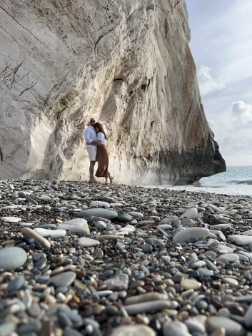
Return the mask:
<svg viewBox="0 0 252 336">
<path fill-rule="evenodd" d="M 252 0 L 186 0 L 206 118 L 227 166 L 252 166 Z"/>
</svg>

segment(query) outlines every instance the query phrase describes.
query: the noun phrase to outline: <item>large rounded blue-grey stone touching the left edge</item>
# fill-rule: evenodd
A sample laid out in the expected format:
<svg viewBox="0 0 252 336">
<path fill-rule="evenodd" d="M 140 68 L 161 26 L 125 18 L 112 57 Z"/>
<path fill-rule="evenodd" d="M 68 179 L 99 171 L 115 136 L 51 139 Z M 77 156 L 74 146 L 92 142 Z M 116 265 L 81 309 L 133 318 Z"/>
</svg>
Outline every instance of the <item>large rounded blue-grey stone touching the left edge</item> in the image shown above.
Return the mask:
<svg viewBox="0 0 252 336">
<path fill-rule="evenodd" d="M 15 270 L 23 266 L 27 260 L 27 253 L 22 248 L 2 248 L 0 250 L 0 269 Z"/>
</svg>

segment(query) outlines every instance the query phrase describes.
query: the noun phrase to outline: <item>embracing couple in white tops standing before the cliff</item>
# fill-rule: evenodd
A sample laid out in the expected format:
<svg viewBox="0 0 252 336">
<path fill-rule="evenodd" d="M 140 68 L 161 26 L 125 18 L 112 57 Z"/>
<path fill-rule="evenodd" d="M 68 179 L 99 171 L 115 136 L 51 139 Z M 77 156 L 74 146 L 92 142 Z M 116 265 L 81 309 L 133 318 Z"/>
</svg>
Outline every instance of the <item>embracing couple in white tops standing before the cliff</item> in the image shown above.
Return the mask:
<svg viewBox="0 0 252 336">
<path fill-rule="evenodd" d="M 94 178 L 94 165 L 98 162 L 97 178 L 105 178 L 105 183 L 113 183 L 113 176 L 109 173 L 109 152 L 106 147 L 106 134 L 101 123 L 96 123 L 94 118 L 89 121 L 89 127 L 84 131 L 86 150 L 89 153 L 89 182 L 97 183 Z"/>
</svg>

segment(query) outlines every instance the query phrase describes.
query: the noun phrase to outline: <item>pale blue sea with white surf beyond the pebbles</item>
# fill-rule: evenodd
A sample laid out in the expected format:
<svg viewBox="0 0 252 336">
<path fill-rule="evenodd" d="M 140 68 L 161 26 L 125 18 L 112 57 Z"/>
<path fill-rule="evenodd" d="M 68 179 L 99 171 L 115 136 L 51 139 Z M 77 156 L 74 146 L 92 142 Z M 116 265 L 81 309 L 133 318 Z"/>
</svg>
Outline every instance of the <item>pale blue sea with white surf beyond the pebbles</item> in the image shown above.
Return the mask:
<svg viewBox="0 0 252 336">
<path fill-rule="evenodd" d="M 201 178 L 192 185 L 162 185 L 158 188 L 252 196 L 252 166 L 227 167 L 225 173 Z"/>
</svg>

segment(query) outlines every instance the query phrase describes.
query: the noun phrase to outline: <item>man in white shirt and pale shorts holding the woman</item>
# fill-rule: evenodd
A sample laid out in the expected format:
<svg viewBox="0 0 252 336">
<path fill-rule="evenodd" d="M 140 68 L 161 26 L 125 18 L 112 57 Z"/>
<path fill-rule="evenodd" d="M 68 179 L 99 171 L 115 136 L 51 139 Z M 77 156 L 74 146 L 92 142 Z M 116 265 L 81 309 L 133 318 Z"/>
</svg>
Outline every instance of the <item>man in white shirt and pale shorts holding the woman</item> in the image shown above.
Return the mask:
<svg viewBox="0 0 252 336">
<path fill-rule="evenodd" d="M 94 179 L 94 165 L 96 164 L 96 152 L 97 152 L 97 136 L 94 131 L 95 118 L 91 118 L 89 121 L 89 127 L 84 131 L 84 138 L 86 141 L 86 150 L 89 153 L 89 182 L 96 183 Z M 95 146 L 96 145 L 96 146 Z"/>
</svg>

